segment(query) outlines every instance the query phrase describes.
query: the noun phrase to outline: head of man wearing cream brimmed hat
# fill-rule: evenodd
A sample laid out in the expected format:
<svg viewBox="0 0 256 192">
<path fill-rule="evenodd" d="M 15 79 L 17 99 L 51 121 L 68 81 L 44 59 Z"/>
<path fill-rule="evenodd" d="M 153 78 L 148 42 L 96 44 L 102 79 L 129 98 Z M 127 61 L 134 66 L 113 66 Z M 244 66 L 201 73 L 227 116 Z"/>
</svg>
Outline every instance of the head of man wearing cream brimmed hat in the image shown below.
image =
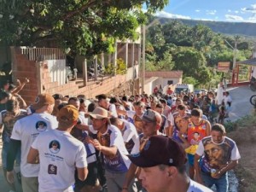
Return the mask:
<svg viewBox="0 0 256 192">
<path fill-rule="evenodd" d="M 105 108 L 97 107 L 93 112 L 88 113 L 92 121 L 93 128 L 96 131 L 107 129 L 109 124 L 108 111 Z"/>
</svg>

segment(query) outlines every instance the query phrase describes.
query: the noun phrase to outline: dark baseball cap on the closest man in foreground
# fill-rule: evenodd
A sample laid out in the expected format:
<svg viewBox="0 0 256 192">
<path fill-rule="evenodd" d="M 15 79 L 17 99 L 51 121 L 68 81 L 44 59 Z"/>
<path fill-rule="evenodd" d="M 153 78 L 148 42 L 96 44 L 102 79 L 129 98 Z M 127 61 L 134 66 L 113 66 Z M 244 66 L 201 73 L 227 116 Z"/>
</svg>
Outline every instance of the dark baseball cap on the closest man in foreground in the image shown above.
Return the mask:
<svg viewBox="0 0 256 192">
<path fill-rule="evenodd" d="M 128 155 L 133 164 L 140 167 L 158 165 L 181 167 L 187 162 L 183 147 L 166 136 L 150 137 L 138 154 Z"/>
</svg>

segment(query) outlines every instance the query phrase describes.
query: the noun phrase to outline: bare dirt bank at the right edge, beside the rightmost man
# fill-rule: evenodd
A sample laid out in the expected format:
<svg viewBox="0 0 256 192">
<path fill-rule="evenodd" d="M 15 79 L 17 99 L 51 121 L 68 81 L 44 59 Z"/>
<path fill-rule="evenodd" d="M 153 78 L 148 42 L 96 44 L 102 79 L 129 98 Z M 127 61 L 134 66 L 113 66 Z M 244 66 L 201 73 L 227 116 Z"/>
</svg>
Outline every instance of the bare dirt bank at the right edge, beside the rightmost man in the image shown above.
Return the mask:
<svg viewBox="0 0 256 192">
<path fill-rule="evenodd" d="M 236 141 L 241 154 L 239 165 L 236 166 L 236 177 L 239 180 L 239 192 L 256 191 L 256 117 L 253 115 L 239 125 L 228 137 Z"/>
</svg>

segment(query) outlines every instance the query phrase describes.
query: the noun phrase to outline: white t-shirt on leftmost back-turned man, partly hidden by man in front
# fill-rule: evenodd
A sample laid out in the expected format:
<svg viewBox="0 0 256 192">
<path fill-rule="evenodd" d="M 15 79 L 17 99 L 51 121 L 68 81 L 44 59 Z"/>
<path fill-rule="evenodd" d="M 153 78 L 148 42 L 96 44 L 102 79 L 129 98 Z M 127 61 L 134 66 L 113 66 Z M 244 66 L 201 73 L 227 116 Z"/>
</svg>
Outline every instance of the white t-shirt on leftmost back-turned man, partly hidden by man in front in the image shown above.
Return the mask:
<svg viewBox="0 0 256 192">
<path fill-rule="evenodd" d="M 21 142 L 20 172 L 24 177 L 38 177 L 39 165 L 26 163 L 29 149 L 39 134 L 56 129 L 58 121 L 49 113 L 32 113 L 16 121 L 11 139 Z"/>
</svg>

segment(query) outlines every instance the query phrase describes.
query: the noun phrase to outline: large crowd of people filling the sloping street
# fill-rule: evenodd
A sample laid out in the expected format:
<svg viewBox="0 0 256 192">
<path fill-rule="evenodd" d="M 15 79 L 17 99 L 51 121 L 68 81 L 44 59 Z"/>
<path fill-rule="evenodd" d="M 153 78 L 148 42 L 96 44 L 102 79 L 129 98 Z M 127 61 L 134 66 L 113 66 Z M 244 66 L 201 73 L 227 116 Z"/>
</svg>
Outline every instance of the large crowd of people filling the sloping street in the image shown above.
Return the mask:
<svg viewBox="0 0 256 192">
<path fill-rule="evenodd" d="M 28 82 L 0 92 L 12 191 L 228 191 L 228 171 L 241 157 L 219 117 L 232 102 L 227 91 L 221 104 L 211 91 L 158 89 L 93 99 L 44 93 L 26 106 L 18 90 Z"/>
</svg>

